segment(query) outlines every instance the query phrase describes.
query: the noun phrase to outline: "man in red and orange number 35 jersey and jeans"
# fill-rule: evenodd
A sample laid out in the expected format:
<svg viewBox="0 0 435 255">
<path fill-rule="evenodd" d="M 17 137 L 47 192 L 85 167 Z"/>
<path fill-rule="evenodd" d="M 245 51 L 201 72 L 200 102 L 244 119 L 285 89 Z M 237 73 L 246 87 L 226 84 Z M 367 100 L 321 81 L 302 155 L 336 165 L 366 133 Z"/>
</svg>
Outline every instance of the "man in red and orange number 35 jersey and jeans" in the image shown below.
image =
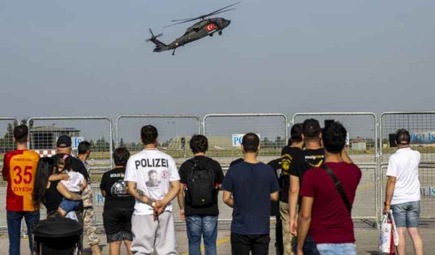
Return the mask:
<svg viewBox="0 0 435 255">
<path fill-rule="evenodd" d="M 16 150 L 5 154 L 3 180 L 8 182 L 6 210 L 9 234 L 9 254 L 20 254 L 20 230 L 24 217 L 29 235 L 29 247 L 33 252 L 32 226 L 39 221 L 39 208 L 33 206 L 32 193 L 39 154 L 27 149 L 29 129 L 18 125 L 14 129 Z"/>
</svg>

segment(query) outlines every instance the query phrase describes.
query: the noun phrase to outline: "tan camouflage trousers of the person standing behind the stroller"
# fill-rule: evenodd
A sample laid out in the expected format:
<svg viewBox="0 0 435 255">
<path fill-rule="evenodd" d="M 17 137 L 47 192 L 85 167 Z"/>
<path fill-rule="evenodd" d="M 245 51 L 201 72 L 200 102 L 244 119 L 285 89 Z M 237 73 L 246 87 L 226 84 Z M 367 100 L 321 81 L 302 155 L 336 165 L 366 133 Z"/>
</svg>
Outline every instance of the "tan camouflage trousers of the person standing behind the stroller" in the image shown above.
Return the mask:
<svg viewBox="0 0 435 255">
<path fill-rule="evenodd" d="M 81 194 L 83 198 L 83 232 L 88 236 L 90 246 L 100 244 L 100 238 L 97 235 L 95 226 L 95 211 L 92 207 L 92 187 L 89 184 Z"/>
</svg>

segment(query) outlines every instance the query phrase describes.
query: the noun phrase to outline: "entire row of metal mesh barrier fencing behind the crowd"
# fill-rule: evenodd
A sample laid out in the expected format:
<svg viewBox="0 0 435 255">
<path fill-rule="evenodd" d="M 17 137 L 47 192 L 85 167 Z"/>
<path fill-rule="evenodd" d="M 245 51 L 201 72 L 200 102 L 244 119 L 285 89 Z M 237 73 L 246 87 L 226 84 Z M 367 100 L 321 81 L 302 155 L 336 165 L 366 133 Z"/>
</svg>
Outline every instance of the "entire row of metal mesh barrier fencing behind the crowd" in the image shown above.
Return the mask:
<svg viewBox="0 0 435 255">
<path fill-rule="evenodd" d="M 356 219 L 376 219 L 381 214 L 385 189 L 385 171 L 388 157 L 395 152 L 390 146 L 390 135 L 405 128 L 412 136 L 412 147 L 421 153 L 421 218 L 435 218 L 435 112 L 386 112 L 380 115 L 369 112 L 346 113 L 296 113 L 291 123 L 316 118 L 323 125 L 325 120 L 343 123 L 349 132 L 348 152 L 363 172 L 353 216 Z M 0 118 L 0 157 L 13 150 L 13 126 L 17 118 Z M 153 124 L 159 131 L 159 148 L 172 155 L 178 165 L 192 156 L 190 137 L 201 133 L 201 119 L 195 115 L 121 115 L 116 121 L 116 139 L 113 140 L 112 121 L 107 117 L 35 117 L 27 121 L 31 142 L 29 149 L 54 150 L 56 138 L 61 134 L 92 142 L 90 157 L 93 178 L 94 204 L 97 224 L 102 224 L 103 199 L 99 195 L 101 174 L 112 167 L 113 146 L 125 146 L 132 153 L 142 148 L 139 145 L 140 128 Z M 224 169 L 230 161 L 241 157 L 240 136 L 246 132 L 260 135 L 260 159 L 267 162 L 280 155 L 287 144 L 289 121 L 286 115 L 272 114 L 208 114 L 203 118 L 203 134 L 209 139 L 208 155 L 218 160 Z M 379 130 L 378 130 L 379 127 Z M 0 160 L 0 166 L 3 160 Z M 5 204 L 6 185 L 0 189 L 0 203 Z M 179 219 L 178 206 L 173 202 L 175 219 Z M 220 199 L 222 221 L 231 219 Z M 45 209 L 41 209 L 45 214 Z M 45 218 L 45 216 L 41 216 Z M 6 230 L 6 211 L 0 209 L 0 232 Z"/>
</svg>

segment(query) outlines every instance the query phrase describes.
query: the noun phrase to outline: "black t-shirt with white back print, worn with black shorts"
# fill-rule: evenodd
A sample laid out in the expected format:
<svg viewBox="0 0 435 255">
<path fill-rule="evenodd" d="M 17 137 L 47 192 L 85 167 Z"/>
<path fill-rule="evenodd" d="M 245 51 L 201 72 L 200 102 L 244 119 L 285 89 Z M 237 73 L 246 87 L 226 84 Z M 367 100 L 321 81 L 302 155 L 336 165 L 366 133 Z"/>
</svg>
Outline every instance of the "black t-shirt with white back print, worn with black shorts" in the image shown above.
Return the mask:
<svg viewBox="0 0 435 255">
<path fill-rule="evenodd" d="M 135 198 L 128 194 L 124 174 L 125 167 L 117 167 L 101 178 L 100 189 L 106 192 L 104 210 L 133 210 Z"/>
</svg>

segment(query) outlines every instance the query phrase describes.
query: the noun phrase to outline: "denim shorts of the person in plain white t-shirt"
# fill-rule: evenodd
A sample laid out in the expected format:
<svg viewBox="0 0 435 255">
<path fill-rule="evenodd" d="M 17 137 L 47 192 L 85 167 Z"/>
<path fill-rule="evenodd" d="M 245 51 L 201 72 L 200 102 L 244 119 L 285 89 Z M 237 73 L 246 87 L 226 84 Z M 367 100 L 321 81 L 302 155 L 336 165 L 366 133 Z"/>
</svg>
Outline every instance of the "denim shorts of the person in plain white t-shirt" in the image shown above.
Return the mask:
<svg viewBox="0 0 435 255">
<path fill-rule="evenodd" d="M 420 224 L 420 201 L 391 204 L 398 228 L 417 228 Z"/>
</svg>

